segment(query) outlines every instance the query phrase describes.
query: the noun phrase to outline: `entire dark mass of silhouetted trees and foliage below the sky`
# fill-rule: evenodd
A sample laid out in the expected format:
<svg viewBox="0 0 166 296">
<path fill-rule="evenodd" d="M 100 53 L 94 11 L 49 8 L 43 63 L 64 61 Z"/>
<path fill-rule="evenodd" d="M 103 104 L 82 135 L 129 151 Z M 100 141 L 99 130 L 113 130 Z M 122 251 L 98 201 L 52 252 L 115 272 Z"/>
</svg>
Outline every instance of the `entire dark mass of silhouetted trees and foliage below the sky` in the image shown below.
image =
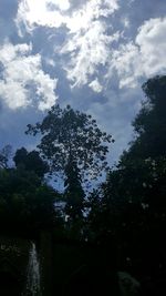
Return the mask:
<svg viewBox="0 0 166 296">
<path fill-rule="evenodd" d="M 70 106 L 54 105 L 41 123 L 28 125 L 27 133 L 39 134 L 40 142 L 31 152 L 19 149 L 13 165 L 10 146 L 0 152 L 1 233 L 35 237 L 48 231 L 65 271 L 71 253 L 74 264 L 74 246 L 91 249 L 80 251 L 89 263 L 66 295 L 86 295 L 84 289 L 73 292 L 85 282 L 92 282 L 87 295 L 93 295 L 93 285 L 97 290 L 103 287 L 101 295 L 118 295 L 113 287 L 116 279 L 112 294 L 104 292 L 113 269 L 137 278 L 138 295 L 166 294 L 166 76 L 148 80 L 143 91 L 145 100 L 133 122 L 134 140 L 113 169 L 106 163 L 112 136 L 90 115 Z M 87 192 L 90 180 L 104 171 L 106 181 Z M 63 193 L 49 185 L 56 180 L 64 182 Z M 110 271 L 106 262 L 112 264 Z M 64 273 L 52 272 L 59 283 Z"/>
</svg>

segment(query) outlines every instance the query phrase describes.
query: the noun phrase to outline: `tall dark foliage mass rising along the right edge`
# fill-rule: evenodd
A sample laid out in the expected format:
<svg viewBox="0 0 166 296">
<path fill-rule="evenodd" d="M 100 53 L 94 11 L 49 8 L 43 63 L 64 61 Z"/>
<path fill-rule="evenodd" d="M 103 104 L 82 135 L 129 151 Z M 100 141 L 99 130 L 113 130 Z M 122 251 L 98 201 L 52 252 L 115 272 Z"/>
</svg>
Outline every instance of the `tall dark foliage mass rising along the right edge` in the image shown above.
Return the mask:
<svg viewBox="0 0 166 296">
<path fill-rule="evenodd" d="M 100 205 L 91 203 L 90 216 L 96 233 L 102 225 L 101 232 L 114 236 L 121 268 L 127 268 L 129 258 L 139 276 L 159 273 L 160 261 L 166 269 L 166 76 L 148 80 L 143 90 L 146 100 L 133 122 L 135 137 L 102 185 Z"/>
</svg>

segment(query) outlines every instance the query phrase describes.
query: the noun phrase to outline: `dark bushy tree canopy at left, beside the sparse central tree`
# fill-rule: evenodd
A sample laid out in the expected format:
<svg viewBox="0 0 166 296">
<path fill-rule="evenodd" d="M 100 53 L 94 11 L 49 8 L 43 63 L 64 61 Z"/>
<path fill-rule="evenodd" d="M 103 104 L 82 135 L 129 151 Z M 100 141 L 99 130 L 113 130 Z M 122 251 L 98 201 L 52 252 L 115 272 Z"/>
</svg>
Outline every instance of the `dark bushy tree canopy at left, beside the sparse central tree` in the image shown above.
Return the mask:
<svg viewBox="0 0 166 296">
<path fill-rule="evenodd" d="M 22 147 L 13 160 L 17 167 L 0 169 L 0 232 L 33 235 L 53 227 L 59 220 L 54 203 L 60 194 L 44 181 L 45 165 L 39 153 Z"/>
</svg>

